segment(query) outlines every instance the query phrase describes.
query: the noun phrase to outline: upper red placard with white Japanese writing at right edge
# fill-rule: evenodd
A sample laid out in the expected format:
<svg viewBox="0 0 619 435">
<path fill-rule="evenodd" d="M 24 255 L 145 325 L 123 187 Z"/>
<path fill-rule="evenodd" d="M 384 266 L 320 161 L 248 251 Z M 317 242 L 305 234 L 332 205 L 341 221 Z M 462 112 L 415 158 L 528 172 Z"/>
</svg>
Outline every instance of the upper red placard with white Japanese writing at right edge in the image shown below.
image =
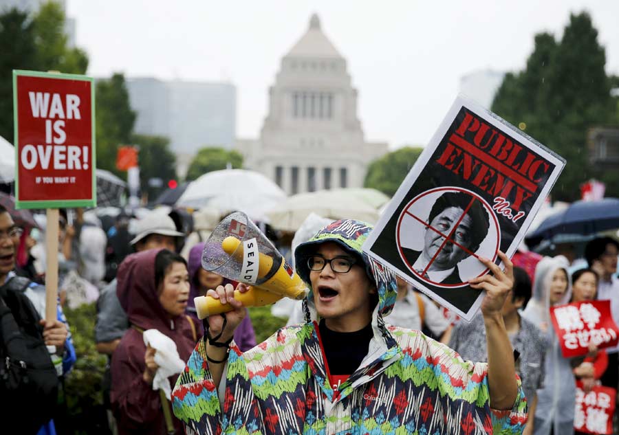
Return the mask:
<svg viewBox="0 0 619 435">
<path fill-rule="evenodd" d="M 590 343 L 607 348 L 619 342 L 619 328 L 613 321 L 609 300 L 552 306 L 550 318 L 566 358 L 586 355 Z"/>
</svg>

